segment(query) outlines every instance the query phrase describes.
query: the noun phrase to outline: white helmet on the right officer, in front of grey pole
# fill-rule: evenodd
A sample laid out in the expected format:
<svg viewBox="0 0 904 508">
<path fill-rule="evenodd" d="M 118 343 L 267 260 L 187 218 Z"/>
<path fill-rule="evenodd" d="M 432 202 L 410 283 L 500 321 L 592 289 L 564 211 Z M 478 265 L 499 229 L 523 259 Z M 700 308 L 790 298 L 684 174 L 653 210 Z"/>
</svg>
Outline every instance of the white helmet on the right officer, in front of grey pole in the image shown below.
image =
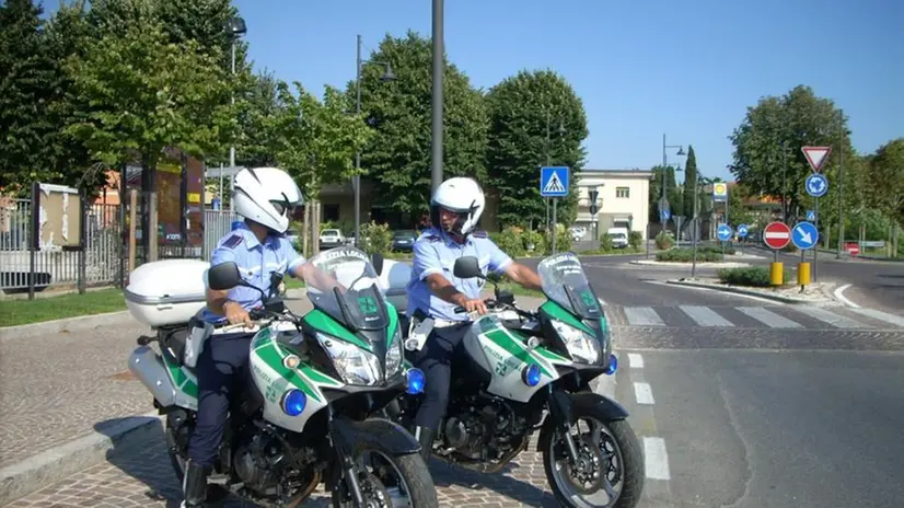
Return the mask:
<svg viewBox="0 0 904 508">
<path fill-rule="evenodd" d="M 445 232 L 465 239 L 474 231 L 477 221 L 480 220 L 485 205 L 484 192 L 474 178 L 465 176 L 449 178 L 437 187 L 433 197 L 430 199 L 430 221 L 433 227 L 443 229 L 440 221 L 440 209 L 456 213 L 457 220 Z"/>
</svg>

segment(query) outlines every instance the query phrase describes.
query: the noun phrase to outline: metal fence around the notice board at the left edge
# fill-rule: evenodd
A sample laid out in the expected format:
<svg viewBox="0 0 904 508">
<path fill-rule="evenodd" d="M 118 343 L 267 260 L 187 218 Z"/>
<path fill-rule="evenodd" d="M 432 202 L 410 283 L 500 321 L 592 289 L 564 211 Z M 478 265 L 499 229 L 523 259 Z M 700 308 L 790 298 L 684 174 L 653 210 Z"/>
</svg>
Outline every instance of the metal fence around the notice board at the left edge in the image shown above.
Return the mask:
<svg viewBox="0 0 904 508">
<path fill-rule="evenodd" d="M 31 199 L 5 199 L 0 206 L 0 289 L 3 292 L 27 291 L 31 280 L 36 290 L 78 286 L 80 279 L 85 287 L 119 282 L 124 252 L 118 205 L 92 205 L 85 210 L 83 257 L 78 249 L 60 246 L 32 253 L 32 220 Z"/>
</svg>

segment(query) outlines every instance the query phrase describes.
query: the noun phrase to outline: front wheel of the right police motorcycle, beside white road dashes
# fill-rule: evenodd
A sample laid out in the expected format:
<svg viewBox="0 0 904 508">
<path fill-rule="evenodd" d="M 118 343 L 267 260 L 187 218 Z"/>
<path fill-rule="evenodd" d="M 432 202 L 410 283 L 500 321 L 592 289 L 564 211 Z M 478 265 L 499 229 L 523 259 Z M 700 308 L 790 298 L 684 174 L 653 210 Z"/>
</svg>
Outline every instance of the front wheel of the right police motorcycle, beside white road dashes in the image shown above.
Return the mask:
<svg viewBox="0 0 904 508">
<path fill-rule="evenodd" d="M 599 404 L 572 399 L 575 463 L 565 437 L 546 429 L 538 443 L 546 480 L 563 506 L 633 508 L 644 490 L 644 454 L 630 425 L 613 420 Z M 556 425 L 547 418 L 545 425 Z"/>
</svg>

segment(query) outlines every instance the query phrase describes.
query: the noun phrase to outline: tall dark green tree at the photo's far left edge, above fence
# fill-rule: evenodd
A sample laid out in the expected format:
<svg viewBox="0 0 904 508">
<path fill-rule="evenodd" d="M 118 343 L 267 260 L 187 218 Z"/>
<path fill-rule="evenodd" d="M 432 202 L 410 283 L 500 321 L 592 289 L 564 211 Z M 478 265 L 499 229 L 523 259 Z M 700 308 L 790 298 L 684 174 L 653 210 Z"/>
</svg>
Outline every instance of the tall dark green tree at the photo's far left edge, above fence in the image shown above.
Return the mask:
<svg viewBox="0 0 904 508">
<path fill-rule="evenodd" d="M 27 192 L 34 181 L 53 182 L 55 66 L 43 44 L 40 14 L 32 0 L 0 3 L 0 188 Z"/>
</svg>

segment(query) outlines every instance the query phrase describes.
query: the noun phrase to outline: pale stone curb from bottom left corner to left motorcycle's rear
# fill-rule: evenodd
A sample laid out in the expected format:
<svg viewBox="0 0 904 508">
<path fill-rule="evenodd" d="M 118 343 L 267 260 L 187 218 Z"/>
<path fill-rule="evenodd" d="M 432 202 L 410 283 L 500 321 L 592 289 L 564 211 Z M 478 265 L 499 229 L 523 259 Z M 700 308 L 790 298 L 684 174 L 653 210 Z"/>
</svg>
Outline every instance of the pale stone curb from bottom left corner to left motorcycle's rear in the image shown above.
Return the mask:
<svg viewBox="0 0 904 508">
<path fill-rule="evenodd" d="M 162 432 L 157 412 L 121 418 L 108 428 L 30 457 L 0 470 L 0 505 L 37 492 L 79 471 L 98 464 L 127 441 Z"/>
</svg>

